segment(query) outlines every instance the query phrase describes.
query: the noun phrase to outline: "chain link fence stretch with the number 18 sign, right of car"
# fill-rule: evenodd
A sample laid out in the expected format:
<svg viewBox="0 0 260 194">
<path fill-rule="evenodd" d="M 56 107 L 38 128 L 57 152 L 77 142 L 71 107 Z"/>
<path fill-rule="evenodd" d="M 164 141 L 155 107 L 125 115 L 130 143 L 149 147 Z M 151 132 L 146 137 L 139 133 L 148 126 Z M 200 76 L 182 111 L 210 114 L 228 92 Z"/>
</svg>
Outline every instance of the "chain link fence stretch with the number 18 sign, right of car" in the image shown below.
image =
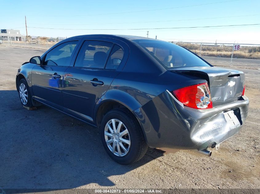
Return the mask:
<svg viewBox="0 0 260 194">
<path fill-rule="evenodd" d="M 172 42 L 214 66 L 260 69 L 260 44 Z"/>
</svg>

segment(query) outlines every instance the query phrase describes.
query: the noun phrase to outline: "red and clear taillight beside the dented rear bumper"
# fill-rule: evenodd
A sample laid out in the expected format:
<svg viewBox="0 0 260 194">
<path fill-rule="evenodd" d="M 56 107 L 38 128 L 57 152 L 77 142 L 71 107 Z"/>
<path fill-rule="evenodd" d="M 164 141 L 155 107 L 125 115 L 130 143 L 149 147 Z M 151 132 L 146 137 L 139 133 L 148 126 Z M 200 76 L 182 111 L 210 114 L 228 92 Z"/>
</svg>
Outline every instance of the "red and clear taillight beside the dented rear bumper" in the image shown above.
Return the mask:
<svg viewBox="0 0 260 194">
<path fill-rule="evenodd" d="M 207 83 L 176 89 L 173 93 L 178 101 L 190 108 L 212 108 L 210 89 Z"/>
</svg>

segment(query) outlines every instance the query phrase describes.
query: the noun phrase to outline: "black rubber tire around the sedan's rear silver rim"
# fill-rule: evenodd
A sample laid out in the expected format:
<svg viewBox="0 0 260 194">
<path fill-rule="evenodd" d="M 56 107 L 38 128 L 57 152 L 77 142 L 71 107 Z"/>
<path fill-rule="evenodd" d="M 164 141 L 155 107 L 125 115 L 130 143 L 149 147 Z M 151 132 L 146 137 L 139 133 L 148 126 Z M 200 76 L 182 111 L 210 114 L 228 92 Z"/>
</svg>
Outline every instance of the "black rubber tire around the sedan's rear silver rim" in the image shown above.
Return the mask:
<svg viewBox="0 0 260 194">
<path fill-rule="evenodd" d="M 124 156 L 117 156 L 115 155 L 110 149 L 108 148 L 105 140 L 105 126 L 107 122 L 111 119 L 118 119 L 122 121 L 122 123 L 126 126 L 130 139 L 131 145 L 128 153 Z M 146 153 L 148 145 L 145 141 L 141 126 L 139 125 L 136 118 L 132 115 L 132 113 L 125 109 L 125 108 L 116 108 L 104 116 L 101 122 L 100 127 L 100 136 L 102 144 L 107 152 L 107 154 L 116 162 L 120 164 L 132 164 L 140 160 Z"/>
</svg>

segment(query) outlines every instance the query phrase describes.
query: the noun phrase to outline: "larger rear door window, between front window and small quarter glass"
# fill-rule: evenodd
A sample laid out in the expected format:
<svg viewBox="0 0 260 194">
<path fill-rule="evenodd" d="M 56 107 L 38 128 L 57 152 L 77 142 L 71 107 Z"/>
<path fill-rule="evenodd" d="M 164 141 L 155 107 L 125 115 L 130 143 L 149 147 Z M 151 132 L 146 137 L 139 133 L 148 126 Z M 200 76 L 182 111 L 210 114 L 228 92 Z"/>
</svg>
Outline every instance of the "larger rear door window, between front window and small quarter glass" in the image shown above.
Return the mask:
<svg viewBox="0 0 260 194">
<path fill-rule="evenodd" d="M 113 43 L 86 40 L 78 53 L 75 67 L 104 68 Z"/>
</svg>

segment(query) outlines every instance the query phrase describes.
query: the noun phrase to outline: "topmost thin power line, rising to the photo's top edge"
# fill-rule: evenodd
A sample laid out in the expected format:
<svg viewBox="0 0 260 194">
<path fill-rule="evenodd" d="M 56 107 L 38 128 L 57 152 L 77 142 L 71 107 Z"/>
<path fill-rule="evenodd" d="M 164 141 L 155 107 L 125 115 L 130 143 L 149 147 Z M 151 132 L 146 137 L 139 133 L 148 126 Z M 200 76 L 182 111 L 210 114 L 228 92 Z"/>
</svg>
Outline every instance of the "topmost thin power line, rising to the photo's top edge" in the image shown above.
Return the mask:
<svg viewBox="0 0 260 194">
<path fill-rule="evenodd" d="M 222 1 L 222 2 L 214 2 L 214 3 L 204 3 L 204 4 L 197 4 L 197 5 L 190 5 L 190 6 L 180 6 L 180 7 L 170 7 L 170 8 L 161 8 L 161 9 L 154 9 L 154 10 L 140 10 L 140 11 L 128 11 L 128 12 L 118 12 L 118 13 L 99 13 L 99 14 L 88 14 L 88 15 L 44 15 L 50 17 L 72 17 L 72 16 L 98 16 L 98 15 L 112 15 L 112 14 L 122 14 L 122 13 L 138 13 L 138 12 L 147 12 L 147 11 L 157 11 L 157 10 L 170 10 L 170 9 L 177 9 L 177 8 L 185 8 L 185 7 L 194 7 L 194 6 L 204 6 L 204 5 L 212 5 L 218 3 L 226 3 L 226 2 L 234 2 L 240 0 L 231 0 L 231 1 Z"/>
</svg>

